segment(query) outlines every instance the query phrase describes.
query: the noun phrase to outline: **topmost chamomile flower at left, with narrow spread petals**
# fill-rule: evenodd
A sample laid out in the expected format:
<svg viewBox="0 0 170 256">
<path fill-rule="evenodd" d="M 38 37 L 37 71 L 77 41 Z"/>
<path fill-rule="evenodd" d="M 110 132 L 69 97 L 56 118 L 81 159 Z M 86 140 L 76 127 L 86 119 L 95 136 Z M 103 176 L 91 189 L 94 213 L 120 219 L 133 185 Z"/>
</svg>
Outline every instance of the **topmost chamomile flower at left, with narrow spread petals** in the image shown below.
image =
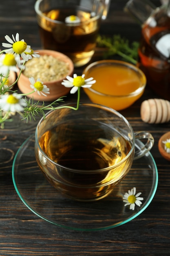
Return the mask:
<svg viewBox="0 0 170 256">
<path fill-rule="evenodd" d="M 28 56 L 26 56 L 25 52 L 31 52 L 31 46 L 27 45 L 26 42 L 24 41 L 24 39 L 19 40 L 19 34 L 17 33 L 16 36 L 14 37 L 12 35 L 12 39 L 6 35 L 5 39 L 9 42 L 9 43 L 2 43 L 3 47 L 7 47 L 9 49 L 6 49 L 5 52 L 6 53 L 11 53 L 14 54 L 14 56 L 16 57 L 16 61 L 17 63 L 20 64 L 20 56 L 24 59 L 24 61 L 28 61 L 29 58 Z"/>
</svg>

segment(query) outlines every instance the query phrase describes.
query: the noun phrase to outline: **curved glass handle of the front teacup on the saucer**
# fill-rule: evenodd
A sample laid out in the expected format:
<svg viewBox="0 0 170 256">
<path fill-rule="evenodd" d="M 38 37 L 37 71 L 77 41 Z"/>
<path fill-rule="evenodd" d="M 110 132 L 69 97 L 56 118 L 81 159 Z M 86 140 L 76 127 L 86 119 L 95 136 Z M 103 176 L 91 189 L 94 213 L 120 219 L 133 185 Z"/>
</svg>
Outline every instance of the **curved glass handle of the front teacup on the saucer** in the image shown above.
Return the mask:
<svg viewBox="0 0 170 256">
<path fill-rule="evenodd" d="M 135 132 L 135 139 L 144 140 L 147 139 L 146 144 L 141 144 L 141 148 L 135 149 L 134 160 L 144 156 L 154 144 L 154 138 L 150 132 L 139 131 Z"/>
</svg>

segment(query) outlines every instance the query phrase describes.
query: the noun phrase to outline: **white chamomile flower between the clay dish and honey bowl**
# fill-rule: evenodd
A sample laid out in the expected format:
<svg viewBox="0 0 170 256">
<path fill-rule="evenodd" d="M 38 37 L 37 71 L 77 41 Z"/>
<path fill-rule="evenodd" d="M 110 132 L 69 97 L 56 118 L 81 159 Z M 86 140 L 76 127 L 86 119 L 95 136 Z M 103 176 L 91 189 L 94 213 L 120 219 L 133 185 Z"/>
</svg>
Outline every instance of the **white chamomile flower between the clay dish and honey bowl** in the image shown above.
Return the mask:
<svg viewBox="0 0 170 256">
<path fill-rule="evenodd" d="M 77 76 L 77 74 L 73 74 L 73 77 L 66 76 L 68 80 L 64 79 L 62 85 L 65 87 L 73 87 L 70 91 L 71 94 L 77 92 L 79 87 L 90 88 L 96 81 L 93 80 L 93 77 L 84 79 L 84 76 L 84 74 L 82 76 Z"/>
</svg>

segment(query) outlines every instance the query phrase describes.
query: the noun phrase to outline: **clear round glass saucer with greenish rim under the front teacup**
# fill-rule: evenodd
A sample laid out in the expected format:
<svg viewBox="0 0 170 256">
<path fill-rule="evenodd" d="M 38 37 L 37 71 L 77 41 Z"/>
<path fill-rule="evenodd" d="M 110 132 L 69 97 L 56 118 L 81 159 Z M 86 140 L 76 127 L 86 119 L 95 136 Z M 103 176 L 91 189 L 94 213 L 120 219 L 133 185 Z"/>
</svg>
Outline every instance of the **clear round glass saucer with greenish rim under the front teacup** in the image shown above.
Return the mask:
<svg viewBox="0 0 170 256">
<path fill-rule="evenodd" d="M 15 190 L 24 204 L 40 218 L 57 226 L 80 231 L 110 229 L 141 214 L 152 201 L 158 184 L 158 171 L 151 153 L 133 162 L 128 175 L 106 198 L 96 202 L 77 202 L 55 190 L 40 171 L 34 155 L 35 137 L 29 137 L 13 161 Z M 139 148 L 140 141 L 136 141 Z M 130 210 L 123 196 L 136 187 L 144 198 L 141 207 Z"/>
</svg>

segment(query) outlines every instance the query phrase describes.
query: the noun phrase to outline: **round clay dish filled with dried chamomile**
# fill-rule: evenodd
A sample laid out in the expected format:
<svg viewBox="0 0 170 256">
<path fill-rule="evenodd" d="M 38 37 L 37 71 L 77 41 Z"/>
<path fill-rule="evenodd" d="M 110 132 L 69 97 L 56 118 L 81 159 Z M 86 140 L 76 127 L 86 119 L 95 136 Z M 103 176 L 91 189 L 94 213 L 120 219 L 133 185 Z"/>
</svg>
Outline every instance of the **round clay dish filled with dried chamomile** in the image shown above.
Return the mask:
<svg viewBox="0 0 170 256">
<path fill-rule="evenodd" d="M 50 89 L 50 93 L 46 96 L 41 96 L 34 92 L 27 97 L 39 100 L 39 101 L 53 101 L 62 96 L 65 96 L 70 91 L 70 88 L 66 88 L 62 85 L 63 79 L 66 76 L 72 76 L 74 65 L 68 56 L 52 51 L 52 50 L 36 50 L 40 54 L 39 58 L 32 58 L 25 64 L 25 70 L 21 73 L 18 80 L 18 88 L 22 93 L 29 93 L 33 89 L 30 87 L 29 78 L 33 76 L 35 81 L 38 78 Z M 17 72 L 17 75 L 19 71 Z"/>
</svg>

